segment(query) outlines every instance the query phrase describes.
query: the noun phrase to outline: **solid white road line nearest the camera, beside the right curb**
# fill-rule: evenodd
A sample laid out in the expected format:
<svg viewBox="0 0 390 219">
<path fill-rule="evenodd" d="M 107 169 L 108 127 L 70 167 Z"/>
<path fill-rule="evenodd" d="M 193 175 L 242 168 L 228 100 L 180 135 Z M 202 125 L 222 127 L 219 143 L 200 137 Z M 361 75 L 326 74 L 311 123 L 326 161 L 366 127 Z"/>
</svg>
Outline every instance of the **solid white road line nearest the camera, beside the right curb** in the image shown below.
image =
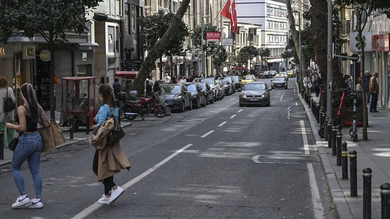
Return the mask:
<svg viewBox="0 0 390 219">
<path fill-rule="evenodd" d="M 314 218 L 324 219 L 324 208 L 322 206 L 321 197 L 319 196 L 319 190 L 317 186 L 316 175 L 314 175 L 313 165 L 307 164 L 307 170 L 309 172 L 310 190 L 312 192 Z"/>
</svg>

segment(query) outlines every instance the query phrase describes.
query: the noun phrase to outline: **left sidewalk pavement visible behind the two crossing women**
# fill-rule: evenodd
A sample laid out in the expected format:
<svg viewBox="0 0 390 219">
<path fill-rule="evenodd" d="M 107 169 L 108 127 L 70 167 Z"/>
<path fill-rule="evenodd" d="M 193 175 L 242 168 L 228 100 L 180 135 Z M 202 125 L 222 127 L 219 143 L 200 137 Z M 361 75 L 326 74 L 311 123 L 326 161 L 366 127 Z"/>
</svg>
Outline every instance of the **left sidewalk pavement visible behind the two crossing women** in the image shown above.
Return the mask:
<svg viewBox="0 0 390 219">
<path fill-rule="evenodd" d="M 50 118 L 50 111 L 45 111 L 46 117 Z M 155 117 L 147 117 L 145 120 L 154 120 Z M 165 117 L 164 117 L 165 118 Z M 57 124 L 60 123 L 60 113 L 55 112 L 55 120 Z M 121 127 L 127 127 L 132 125 L 129 120 L 125 119 L 124 117 L 121 118 Z M 66 145 L 71 145 L 73 143 L 79 142 L 79 141 L 84 141 L 87 140 L 87 138 L 90 138 L 93 136 L 92 134 L 92 129 L 89 130 L 89 134 L 86 134 L 86 128 L 85 127 L 80 127 L 77 132 L 73 132 L 73 139 L 70 139 L 70 129 L 69 127 L 60 127 L 60 130 L 62 131 L 62 134 L 64 135 L 64 138 L 66 142 L 62 145 L 58 145 L 56 148 L 63 147 Z M 15 132 L 14 138 L 18 136 L 18 132 Z M 5 136 L 4 136 L 5 137 Z M 7 147 L 7 140 L 5 140 L 5 148 L 4 148 L 4 160 L 0 160 L 0 166 L 9 164 L 12 160 L 12 155 L 14 152 L 8 149 Z"/>
</svg>

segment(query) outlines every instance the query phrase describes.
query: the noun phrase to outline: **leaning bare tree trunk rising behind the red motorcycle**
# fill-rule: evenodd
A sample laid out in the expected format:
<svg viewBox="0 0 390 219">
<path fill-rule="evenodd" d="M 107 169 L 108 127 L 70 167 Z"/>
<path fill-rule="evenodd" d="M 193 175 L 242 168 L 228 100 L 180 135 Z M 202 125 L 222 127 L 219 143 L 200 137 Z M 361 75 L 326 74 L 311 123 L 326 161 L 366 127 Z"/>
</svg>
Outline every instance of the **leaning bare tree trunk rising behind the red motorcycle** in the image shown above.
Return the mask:
<svg viewBox="0 0 390 219">
<path fill-rule="evenodd" d="M 147 76 L 149 76 L 149 72 L 152 71 L 153 65 L 155 64 L 157 58 L 159 58 L 160 54 L 163 53 L 169 42 L 172 40 L 173 33 L 177 30 L 181 19 L 183 19 L 184 13 L 187 11 L 188 4 L 190 4 L 190 0 L 183 0 L 179 10 L 176 12 L 175 17 L 172 20 L 172 23 L 169 25 L 168 30 L 149 51 L 148 56 L 145 58 L 144 63 L 141 65 L 140 71 L 138 71 L 138 74 L 135 77 L 133 84 L 131 85 L 131 90 L 137 90 L 139 93 L 141 93 L 142 87 L 144 86 L 144 81 L 146 80 Z"/>
</svg>

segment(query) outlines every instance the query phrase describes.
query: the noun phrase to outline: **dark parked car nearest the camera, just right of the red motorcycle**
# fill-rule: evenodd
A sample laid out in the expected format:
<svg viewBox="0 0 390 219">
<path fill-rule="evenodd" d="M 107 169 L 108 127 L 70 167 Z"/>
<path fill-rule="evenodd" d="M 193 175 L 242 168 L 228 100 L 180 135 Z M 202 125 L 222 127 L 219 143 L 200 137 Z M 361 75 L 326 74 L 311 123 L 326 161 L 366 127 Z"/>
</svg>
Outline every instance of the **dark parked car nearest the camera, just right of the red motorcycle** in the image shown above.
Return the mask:
<svg viewBox="0 0 390 219">
<path fill-rule="evenodd" d="M 162 84 L 161 95 L 165 98 L 166 103 L 172 110 L 184 112 L 184 108 L 191 110 L 192 101 L 191 93 L 184 84 Z"/>
</svg>

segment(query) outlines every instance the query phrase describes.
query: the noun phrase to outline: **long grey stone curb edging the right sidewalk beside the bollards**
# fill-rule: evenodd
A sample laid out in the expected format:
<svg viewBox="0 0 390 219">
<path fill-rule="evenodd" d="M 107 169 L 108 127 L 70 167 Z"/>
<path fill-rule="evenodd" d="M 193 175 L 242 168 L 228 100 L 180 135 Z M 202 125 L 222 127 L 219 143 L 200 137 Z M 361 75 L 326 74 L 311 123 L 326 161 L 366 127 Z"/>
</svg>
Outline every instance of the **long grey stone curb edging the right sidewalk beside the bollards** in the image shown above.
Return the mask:
<svg viewBox="0 0 390 219">
<path fill-rule="evenodd" d="M 347 200 L 344 196 L 344 192 L 340 187 L 339 180 L 337 180 L 335 170 L 333 169 L 332 163 L 330 162 L 330 159 L 328 157 L 328 153 L 325 150 L 324 143 L 321 138 L 317 136 L 318 129 L 316 127 L 316 122 L 314 122 L 314 119 L 311 115 L 311 111 L 308 109 L 308 106 L 306 106 L 306 102 L 300 96 L 297 83 L 296 87 L 298 90 L 299 100 L 305 108 L 305 112 L 310 123 L 310 129 L 312 130 L 314 139 L 316 140 L 317 151 L 321 159 L 321 164 L 324 168 L 326 182 L 328 183 L 330 196 L 332 197 L 337 217 L 339 219 L 353 219 L 354 217 L 352 215 L 351 208 L 349 208 Z"/>
</svg>

